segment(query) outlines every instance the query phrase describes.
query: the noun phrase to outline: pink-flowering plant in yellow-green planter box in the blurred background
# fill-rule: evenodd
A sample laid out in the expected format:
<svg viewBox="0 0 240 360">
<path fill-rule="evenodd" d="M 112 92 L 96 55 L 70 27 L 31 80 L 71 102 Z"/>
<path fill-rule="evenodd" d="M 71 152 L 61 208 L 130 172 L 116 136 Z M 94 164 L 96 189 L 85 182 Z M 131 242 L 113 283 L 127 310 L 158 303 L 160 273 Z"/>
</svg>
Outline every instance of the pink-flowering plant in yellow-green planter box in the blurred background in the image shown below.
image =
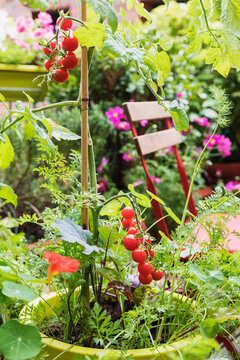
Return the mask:
<svg viewBox="0 0 240 360">
<path fill-rule="evenodd" d="M 52 17 L 40 12 L 38 18 L 18 16 L 15 20 L 5 10 L 0 10 L 0 92 L 7 101 L 24 101 L 23 91 L 35 102 L 43 100 L 47 86 L 33 80 L 46 73 L 40 49 L 43 41 L 54 36 Z"/>
</svg>

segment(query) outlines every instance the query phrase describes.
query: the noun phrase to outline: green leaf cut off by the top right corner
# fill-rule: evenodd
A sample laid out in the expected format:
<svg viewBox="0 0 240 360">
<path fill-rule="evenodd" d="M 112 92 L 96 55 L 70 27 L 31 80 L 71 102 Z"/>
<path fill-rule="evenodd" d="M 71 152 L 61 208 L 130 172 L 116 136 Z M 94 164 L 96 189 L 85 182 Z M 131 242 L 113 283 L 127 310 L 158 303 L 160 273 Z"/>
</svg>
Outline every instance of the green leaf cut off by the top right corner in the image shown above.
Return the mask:
<svg viewBox="0 0 240 360">
<path fill-rule="evenodd" d="M 239 0 L 222 0 L 221 20 L 226 29 L 240 37 L 240 2 Z"/>
</svg>

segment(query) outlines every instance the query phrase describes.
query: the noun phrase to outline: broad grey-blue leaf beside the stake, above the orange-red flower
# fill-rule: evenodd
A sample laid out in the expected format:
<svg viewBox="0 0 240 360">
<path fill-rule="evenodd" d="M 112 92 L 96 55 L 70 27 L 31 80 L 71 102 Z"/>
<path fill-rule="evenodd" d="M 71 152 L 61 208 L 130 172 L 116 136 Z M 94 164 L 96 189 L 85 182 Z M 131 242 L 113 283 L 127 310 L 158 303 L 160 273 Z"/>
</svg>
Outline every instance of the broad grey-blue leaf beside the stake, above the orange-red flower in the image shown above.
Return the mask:
<svg viewBox="0 0 240 360">
<path fill-rule="evenodd" d="M 92 238 L 92 233 L 88 230 L 84 230 L 81 226 L 75 224 L 71 219 L 57 218 L 53 226 L 56 227 L 61 235 L 61 238 L 67 242 L 82 245 L 85 250 L 83 254 L 90 255 L 93 251 L 99 251 L 100 248 L 95 245 L 89 245 L 88 242 Z"/>
</svg>

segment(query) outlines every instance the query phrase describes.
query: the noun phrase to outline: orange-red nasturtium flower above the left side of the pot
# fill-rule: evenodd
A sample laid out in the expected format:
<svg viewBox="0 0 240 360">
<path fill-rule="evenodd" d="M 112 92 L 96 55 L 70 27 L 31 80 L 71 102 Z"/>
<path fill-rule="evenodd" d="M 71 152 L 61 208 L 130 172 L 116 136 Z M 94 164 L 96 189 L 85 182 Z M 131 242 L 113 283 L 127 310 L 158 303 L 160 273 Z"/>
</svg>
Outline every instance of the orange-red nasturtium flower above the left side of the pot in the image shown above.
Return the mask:
<svg viewBox="0 0 240 360">
<path fill-rule="evenodd" d="M 80 262 L 76 259 L 71 259 L 69 256 L 62 256 L 51 251 L 45 251 L 43 258 L 47 259 L 50 264 L 48 267 L 49 288 L 52 276 L 61 274 L 62 272 L 76 272 L 80 265 Z"/>
</svg>

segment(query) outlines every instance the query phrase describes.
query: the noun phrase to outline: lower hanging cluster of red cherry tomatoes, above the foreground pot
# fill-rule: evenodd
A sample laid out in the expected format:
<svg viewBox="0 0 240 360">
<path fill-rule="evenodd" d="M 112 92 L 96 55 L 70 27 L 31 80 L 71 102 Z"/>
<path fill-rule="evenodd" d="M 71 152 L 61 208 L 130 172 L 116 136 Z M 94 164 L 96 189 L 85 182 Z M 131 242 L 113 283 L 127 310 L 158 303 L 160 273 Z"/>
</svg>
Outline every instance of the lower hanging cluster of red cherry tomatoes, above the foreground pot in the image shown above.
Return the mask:
<svg viewBox="0 0 240 360">
<path fill-rule="evenodd" d="M 123 240 L 124 247 L 132 251 L 132 259 L 138 263 L 139 281 L 142 284 L 150 284 L 152 280 L 161 280 L 163 272 L 154 270 L 152 264 L 146 260 L 153 259 L 154 250 L 151 249 L 152 240 L 141 237 L 137 228 L 137 222 L 134 219 L 134 210 L 131 207 L 125 207 L 122 210 L 122 225 L 128 229 L 127 236 Z M 144 228 L 144 222 L 141 221 L 141 228 Z"/>
</svg>

